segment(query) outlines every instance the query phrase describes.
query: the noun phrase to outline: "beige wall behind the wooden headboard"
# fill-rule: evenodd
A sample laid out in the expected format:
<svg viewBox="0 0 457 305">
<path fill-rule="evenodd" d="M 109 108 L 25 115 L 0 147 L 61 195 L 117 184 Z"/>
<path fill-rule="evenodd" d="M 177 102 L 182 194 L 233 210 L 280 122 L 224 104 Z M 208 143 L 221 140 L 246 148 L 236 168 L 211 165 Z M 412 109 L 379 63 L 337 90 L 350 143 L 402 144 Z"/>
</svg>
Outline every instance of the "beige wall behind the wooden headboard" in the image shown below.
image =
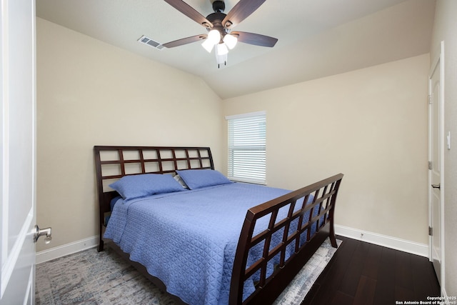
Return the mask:
<svg viewBox="0 0 457 305">
<path fill-rule="evenodd" d="M 221 100 L 196 76 L 38 19 L 37 79 L 37 251 L 97 234 L 94 145 L 211 146 L 221 167 Z"/>
</svg>

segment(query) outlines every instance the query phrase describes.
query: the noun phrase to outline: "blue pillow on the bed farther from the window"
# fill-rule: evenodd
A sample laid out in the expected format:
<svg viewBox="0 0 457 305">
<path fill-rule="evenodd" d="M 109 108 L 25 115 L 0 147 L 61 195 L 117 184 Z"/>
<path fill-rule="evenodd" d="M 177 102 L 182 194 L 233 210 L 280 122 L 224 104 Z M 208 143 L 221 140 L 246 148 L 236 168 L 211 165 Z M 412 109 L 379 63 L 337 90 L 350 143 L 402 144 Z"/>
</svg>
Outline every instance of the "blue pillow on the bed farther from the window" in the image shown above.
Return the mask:
<svg viewBox="0 0 457 305">
<path fill-rule="evenodd" d="M 167 174 L 124 176 L 109 187 L 117 191 L 124 200 L 184 190 L 173 176 Z"/>
</svg>

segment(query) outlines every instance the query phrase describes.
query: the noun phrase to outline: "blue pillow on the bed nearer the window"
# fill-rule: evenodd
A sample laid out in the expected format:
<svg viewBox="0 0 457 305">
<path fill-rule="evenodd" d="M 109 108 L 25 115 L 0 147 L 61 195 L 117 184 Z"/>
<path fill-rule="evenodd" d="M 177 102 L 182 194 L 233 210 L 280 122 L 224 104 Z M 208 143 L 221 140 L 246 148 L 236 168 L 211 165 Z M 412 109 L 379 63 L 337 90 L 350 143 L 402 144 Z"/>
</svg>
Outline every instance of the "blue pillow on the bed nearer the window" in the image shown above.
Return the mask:
<svg viewBox="0 0 457 305">
<path fill-rule="evenodd" d="M 186 182 L 189 189 L 201 189 L 205 186 L 233 183 L 219 171 L 213 169 L 186 169 L 176 171 Z"/>
</svg>

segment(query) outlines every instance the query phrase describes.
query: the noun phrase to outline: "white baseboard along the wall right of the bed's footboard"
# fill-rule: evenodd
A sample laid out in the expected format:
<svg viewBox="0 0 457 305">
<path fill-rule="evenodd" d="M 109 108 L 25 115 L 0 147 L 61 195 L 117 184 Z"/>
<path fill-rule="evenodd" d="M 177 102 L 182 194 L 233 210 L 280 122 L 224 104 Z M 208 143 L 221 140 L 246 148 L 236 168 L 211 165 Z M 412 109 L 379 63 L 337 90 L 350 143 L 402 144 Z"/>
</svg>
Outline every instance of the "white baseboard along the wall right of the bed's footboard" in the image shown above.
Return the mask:
<svg viewBox="0 0 457 305">
<path fill-rule="evenodd" d="M 398 239 L 392 236 L 353 229 L 348 226 L 338 226 L 337 224 L 335 225 L 335 234 L 346 236 L 351 239 L 357 239 L 359 241 L 366 241 L 370 244 L 386 246 L 391 249 L 428 257 L 428 244 L 419 244 L 414 241 L 407 241 L 405 239 Z"/>
</svg>

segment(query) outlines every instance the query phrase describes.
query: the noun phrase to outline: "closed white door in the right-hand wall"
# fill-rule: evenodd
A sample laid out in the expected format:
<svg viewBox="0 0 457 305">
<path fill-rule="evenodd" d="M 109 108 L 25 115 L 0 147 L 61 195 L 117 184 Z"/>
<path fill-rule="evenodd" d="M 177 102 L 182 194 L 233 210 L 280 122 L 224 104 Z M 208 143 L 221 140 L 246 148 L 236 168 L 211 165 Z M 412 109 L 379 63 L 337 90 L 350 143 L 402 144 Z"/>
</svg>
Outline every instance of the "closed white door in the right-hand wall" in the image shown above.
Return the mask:
<svg viewBox="0 0 457 305">
<path fill-rule="evenodd" d="M 430 260 L 443 286 L 443 44 L 433 61 L 429 82 L 428 154 Z"/>
</svg>

